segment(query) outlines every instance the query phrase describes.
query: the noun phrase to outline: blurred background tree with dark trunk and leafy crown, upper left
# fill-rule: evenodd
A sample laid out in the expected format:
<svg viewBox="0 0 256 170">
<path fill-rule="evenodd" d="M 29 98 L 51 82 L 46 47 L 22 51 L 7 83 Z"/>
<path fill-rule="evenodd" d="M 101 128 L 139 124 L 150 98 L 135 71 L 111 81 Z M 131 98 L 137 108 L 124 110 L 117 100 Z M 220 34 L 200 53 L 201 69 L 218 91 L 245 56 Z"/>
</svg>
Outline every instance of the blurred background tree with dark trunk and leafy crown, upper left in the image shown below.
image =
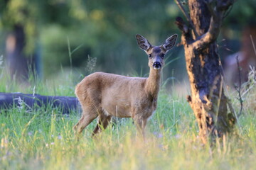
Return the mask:
<svg viewBox="0 0 256 170">
<path fill-rule="evenodd" d="M 41 76 L 41 28 L 53 23 L 69 28 L 84 16 L 78 1 L 0 2 L 0 30 L 5 39 L 6 67 L 11 77 L 20 81 L 28 79 L 29 69 Z M 70 15 L 67 15 L 68 12 Z"/>
</svg>

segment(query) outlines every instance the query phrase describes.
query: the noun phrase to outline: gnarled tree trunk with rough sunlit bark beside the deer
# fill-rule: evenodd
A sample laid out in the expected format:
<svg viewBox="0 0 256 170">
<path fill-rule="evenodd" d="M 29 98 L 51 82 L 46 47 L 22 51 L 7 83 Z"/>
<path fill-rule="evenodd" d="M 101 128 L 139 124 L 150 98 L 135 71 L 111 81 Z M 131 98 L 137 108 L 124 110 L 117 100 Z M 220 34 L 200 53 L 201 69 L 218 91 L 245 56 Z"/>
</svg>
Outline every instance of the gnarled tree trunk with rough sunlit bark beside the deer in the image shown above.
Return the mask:
<svg viewBox="0 0 256 170">
<path fill-rule="evenodd" d="M 176 2 L 181 8 L 181 3 Z M 216 42 L 225 11 L 232 4 L 232 0 L 188 0 L 186 17 L 190 26 L 180 17 L 176 19 L 182 31 L 181 44 L 191 84 L 191 96 L 187 100 L 196 116 L 203 144 L 232 132 L 235 124 L 235 116 L 228 113 Z"/>
</svg>

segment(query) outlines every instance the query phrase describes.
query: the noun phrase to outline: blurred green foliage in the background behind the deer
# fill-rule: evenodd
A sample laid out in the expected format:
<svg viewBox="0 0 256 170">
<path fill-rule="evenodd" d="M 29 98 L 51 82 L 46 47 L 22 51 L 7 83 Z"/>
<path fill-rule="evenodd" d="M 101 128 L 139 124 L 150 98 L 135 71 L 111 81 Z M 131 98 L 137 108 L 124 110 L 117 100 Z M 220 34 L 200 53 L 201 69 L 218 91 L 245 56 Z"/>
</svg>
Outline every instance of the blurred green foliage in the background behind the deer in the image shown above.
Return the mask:
<svg viewBox="0 0 256 170">
<path fill-rule="evenodd" d="M 186 1 L 184 1 L 186 4 Z M 244 26 L 255 21 L 255 1 L 237 1 L 226 18 L 226 24 Z M 96 71 L 119 74 L 147 72 L 147 57 L 137 47 L 135 34 L 144 35 L 153 45 L 160 45 L 179 30 L 175 18 L 183 16 L 174 1 L 153 0 L 1 0 L 1 34 L 13 26 L 23 26 L 27 54 L 39 42 L 46 77 L 69 67 L 68 40 L 73 67 L 85 73 L 88 56 L 97 58 Z M 3 36 L 1 36 L 2 38 Z M 179 40 L 178 40 L 179 42 Z M 4 53 L 4 52 L 1 52 Z M 185 67 L 182 52 L 174 49 L 171 58 L 181 55 L 178 64 Z M 141 75 L 141 74 L 140 74 Z M 141 76 L 143 76 L 141 75 Z"/>
</svg>

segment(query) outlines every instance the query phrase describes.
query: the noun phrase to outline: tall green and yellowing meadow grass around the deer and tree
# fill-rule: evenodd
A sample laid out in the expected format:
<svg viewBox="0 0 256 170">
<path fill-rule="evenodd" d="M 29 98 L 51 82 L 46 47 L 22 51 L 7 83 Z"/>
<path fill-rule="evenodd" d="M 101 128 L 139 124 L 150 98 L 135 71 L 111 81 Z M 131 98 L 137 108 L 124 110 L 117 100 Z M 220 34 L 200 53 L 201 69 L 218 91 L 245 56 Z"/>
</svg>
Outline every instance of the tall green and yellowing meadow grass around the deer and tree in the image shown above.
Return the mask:
<svg viewBox="0 0 256 170">
<path fill-rule="evenodd" d="M 74 96 L 72 77 L 54 81 L 30 79 L 16 84 L 1 73 L 0 91 Z M 78 82 L 78 81 L 77 81 Z M 256 94 L 252 89 L 250 95 Z M 255 98 L 247 98 L 255 101 Z M 198 128 L 185 98 L 162 90 L 158 108 L 146 128 L 146 143 L 136 140 L 131 119 L 118 120 L 97 140 L 92 122 L 75 142 L 73 125 L 80 113 L 60 115 L 50 108 L 10 108 L 0 113 L 1 169 L 255 169 L 256 115 L 246 105 L 239 137 L 227 137 L 214 148 L 202 147 Z M 47 106 L 46 106 L 47 107 Z M 253 107 L 252 107 L 253 109 Z M 239 110 L 237 106 L 237 110 Z"/>
</svg>

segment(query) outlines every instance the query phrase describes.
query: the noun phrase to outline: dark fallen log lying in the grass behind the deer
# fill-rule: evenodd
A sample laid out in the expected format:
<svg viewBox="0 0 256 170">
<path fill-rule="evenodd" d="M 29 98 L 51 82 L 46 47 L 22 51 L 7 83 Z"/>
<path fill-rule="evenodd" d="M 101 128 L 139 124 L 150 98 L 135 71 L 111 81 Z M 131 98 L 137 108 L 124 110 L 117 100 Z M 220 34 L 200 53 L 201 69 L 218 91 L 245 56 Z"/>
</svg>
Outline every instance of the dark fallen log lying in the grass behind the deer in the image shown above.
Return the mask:
<svg viewBox="0 0 256 170">
<path fill-rule="evenodd" d="M 14 106 L 25 106 L 27 108 L 50 106 L 51 108 L 60 108 L 58 111 L 61 111 L 63 114 L 69 114 L 73 110 L 80 109 L 78 99 L 75 97 L 0 93 L 0 108 L 12 108 Z"/>
</svg>

